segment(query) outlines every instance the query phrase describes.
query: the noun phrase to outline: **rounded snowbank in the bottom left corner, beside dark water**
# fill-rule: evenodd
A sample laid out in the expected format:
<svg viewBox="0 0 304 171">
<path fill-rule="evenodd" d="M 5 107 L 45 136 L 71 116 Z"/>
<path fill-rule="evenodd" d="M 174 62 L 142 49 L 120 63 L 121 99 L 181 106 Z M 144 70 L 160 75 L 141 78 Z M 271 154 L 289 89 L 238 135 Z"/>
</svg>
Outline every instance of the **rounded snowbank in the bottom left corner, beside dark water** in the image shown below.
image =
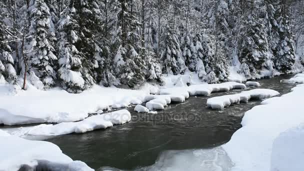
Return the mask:
<svg viewBox="0 0 304 171">
<path fill-rule="evenodd" d="M 73 161 L 55 144 L 3 136 L 2 133 L 0 132 L 0 170 L 18 170 L 21 166 L 27 168 L 26 170 L 35 170 L 37 165 L 43 165 L 44 168 L 46 167 L 45 170 L 49 168 L 70 171 L 93 170 L 84 162 Z"/>
</svg>

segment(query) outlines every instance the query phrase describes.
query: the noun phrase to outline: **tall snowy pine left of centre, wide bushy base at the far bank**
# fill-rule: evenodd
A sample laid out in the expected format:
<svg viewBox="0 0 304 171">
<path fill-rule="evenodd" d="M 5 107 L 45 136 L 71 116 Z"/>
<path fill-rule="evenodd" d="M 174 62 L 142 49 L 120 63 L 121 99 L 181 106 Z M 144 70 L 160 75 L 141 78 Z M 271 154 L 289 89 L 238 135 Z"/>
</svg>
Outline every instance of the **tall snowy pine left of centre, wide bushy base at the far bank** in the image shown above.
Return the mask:
<svg viewBox="0 0 304 171">
<path fill-rule="evenodd" d="M 145 62 L 143 60 L 144 48 L 140 34 L 138 32 L 140 22 L 134 15 L 134 4 L 132 0 L 119 0 L 117 5 L 117 45 L 118 49 L 115 55 L 116 73 L 120 75 L 120 82 L 129 87 L 140 85 L 145 79 L 143 69 Z"/>
</svg>

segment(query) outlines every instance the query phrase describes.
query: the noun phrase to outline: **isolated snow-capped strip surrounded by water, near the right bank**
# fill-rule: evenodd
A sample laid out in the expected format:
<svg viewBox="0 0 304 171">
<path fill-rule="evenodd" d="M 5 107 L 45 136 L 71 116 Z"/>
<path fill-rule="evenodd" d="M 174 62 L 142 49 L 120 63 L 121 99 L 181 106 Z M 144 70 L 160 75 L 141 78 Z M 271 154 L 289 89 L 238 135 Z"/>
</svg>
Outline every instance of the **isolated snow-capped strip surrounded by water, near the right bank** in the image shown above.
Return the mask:
<svg viewBox="0 0 304 171">
<path fill-rule="evenodd" d="M 279 92 L 272 89 L 257 88 L 249 91 L 242 91 L 237 94 L 229 94 L 216 96 L 207 99 L 207 106 L 213 109 L 223 109 L 231 104 L 237 104 L 239 102 L 248 102 L 251 98 L 265 99 L 275 95 L 279 95 Z"/>
</svg>

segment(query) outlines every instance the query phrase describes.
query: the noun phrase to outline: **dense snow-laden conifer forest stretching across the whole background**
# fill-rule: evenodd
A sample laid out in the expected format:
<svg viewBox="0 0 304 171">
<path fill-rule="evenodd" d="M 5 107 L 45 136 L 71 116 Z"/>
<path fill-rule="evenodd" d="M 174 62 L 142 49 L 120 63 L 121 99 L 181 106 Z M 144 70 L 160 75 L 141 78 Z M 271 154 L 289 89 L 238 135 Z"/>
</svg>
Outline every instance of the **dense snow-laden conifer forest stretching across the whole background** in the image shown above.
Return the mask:
<svg viewBox="0 0 304 171">
<path fill-rule="evenodd" d="M 295 72 L 303 39 L 304 0 L 1 0 L 0 82 L 77 93 L 189 71 L 223 82 L 230 66 L 253 79 Z"/>
</svg>

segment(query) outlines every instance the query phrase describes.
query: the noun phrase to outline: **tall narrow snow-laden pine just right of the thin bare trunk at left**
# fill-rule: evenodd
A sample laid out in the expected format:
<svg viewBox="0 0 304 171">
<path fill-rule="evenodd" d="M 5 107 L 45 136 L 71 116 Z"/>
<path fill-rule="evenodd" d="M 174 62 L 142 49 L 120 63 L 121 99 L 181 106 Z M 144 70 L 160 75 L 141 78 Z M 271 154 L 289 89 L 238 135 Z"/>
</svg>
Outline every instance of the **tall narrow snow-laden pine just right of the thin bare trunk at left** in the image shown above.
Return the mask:
<svg viewBox="0 0 304 171">
<path fill-rule="evenodd" d="M 31 70 L 42 80 L 46 87 L 51 87 L 56 80 L 56 61 L 54 30 L 51 28 L 49 8 L 43 0 L 31 0 L 28 8 L 30 17 L 29 32 L 34 35 L 30 40 L 35 50 L 31 54 Z"/>
</svg>

